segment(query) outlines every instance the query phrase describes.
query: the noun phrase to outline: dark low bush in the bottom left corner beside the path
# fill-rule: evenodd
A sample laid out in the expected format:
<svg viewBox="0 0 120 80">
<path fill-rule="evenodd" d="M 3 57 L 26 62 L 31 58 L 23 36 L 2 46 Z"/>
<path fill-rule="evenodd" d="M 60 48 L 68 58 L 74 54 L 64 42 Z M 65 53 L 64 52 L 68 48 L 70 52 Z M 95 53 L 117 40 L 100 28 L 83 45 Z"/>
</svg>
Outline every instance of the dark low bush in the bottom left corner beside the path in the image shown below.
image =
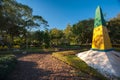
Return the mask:
<svg viewBox="0 0 120 80">
<path fill-rule="evenodd" d="M 15 68 L 16 62 L 13 55 L 0 56 L 0 79 L 4 79 Z"/>
</svg>

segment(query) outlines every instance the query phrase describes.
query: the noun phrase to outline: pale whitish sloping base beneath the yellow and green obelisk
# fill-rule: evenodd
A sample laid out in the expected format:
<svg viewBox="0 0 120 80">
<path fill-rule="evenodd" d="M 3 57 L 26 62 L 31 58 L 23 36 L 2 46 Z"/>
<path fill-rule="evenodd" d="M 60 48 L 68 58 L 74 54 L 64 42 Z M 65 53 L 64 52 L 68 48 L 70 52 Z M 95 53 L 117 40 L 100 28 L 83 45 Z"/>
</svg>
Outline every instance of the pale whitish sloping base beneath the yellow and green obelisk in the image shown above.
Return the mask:
<svg viewBox="0 0 120 80">
<path fill-rule="evenodd" d="M 89 50 L 77 56 L 104 76 L 113 79 L 120 77 L 120 53 L 116 51 Z"/>
</svg>

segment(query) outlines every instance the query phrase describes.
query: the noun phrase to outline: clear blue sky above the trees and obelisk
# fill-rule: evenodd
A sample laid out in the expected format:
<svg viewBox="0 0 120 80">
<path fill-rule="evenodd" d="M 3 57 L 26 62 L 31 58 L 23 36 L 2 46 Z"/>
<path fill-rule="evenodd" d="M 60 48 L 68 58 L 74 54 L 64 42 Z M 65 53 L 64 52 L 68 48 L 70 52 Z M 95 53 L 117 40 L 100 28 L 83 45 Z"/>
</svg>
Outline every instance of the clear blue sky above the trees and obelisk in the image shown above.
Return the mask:
<svg viewBox="0 0 120 80">
<path fill-rule="evenodd" d="M 120 0 L 16 0 L 33 9 L 48 21 L 50 28 L 65 29 L 80 20 L 94 18 L 97 6 L 101 6 L 105 19 L 120 13 Z"/>
</svg>

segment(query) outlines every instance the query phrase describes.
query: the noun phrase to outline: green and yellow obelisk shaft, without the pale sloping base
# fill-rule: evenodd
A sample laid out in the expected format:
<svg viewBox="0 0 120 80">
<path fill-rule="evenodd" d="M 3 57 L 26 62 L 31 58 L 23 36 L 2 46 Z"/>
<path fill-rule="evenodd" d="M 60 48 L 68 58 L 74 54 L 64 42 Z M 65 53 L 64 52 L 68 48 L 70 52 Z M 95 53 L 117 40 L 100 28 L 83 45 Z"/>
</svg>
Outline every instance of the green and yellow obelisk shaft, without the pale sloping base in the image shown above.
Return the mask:
<svg viewBox="0 0 120 80">
<path fill-rule="evenodd" d="M 100 51 L 112 50 L 112 45 L 100 6 L 97 7 L 95 13 L 92 49 Z"/>
</svg>

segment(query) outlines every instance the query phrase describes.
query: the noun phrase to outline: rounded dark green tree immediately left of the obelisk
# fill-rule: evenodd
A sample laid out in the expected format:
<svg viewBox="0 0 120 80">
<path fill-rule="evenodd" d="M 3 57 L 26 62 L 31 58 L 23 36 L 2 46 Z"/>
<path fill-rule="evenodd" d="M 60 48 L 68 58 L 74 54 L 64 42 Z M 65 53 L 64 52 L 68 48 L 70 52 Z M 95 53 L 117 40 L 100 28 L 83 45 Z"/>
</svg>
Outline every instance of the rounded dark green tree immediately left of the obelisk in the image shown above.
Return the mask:
<svg viewBox="0 0 120 80">
<path fill-rule="evenodd" d="M 74 24 L 72 27 L 72 32 L 75 36 L 75 41 L 77 44 L 90 43 L 92 39 L 93 30 L 93 19 L 82 20 Z"/>
</svg>

